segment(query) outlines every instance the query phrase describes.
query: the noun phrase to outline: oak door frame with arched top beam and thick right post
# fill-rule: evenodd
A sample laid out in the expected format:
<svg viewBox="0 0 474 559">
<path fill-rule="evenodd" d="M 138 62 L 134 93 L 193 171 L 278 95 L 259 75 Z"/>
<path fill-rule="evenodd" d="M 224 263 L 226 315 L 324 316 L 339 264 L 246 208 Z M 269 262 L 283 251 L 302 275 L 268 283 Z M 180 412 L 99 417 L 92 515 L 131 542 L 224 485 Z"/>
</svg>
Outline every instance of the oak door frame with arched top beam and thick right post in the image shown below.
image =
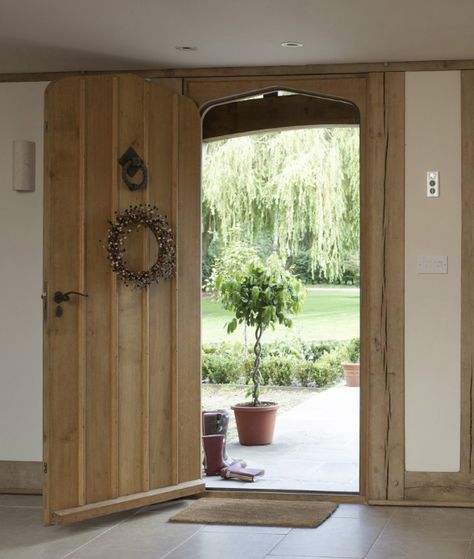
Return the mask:
<svg viewBox="0 0 474 559">
<path fill-rule="evenodd" d="M 191 78 L 183 83 L 184 95 L 194 100 L 202 114 L 223 102 L 277 89 L 339 98 L 360 112 L 360 484 L 356 496 L 332 497 L 361 502 L 400 500 L 405 485 L 405 76 L 377 72 Z"/>
</svg>

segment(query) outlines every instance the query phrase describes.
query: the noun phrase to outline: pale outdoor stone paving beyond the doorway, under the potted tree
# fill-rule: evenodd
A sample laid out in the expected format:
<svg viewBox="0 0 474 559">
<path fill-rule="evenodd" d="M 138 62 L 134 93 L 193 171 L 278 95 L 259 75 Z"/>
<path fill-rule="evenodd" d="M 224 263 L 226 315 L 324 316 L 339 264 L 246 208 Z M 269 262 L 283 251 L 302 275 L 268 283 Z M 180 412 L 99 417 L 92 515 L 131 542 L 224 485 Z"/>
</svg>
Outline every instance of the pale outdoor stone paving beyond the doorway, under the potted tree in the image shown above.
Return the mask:
<svg viewBox="0 0 474 559">
<path fill-rule="evenodd" d="M 359 389 L 343 385 L 315 394 L 277 417 L 271 445 L 227 446 L 232 458 L 265 469 L 255 483 L 205 477 L 207 488 L 359 491 Z"/>
</svg>

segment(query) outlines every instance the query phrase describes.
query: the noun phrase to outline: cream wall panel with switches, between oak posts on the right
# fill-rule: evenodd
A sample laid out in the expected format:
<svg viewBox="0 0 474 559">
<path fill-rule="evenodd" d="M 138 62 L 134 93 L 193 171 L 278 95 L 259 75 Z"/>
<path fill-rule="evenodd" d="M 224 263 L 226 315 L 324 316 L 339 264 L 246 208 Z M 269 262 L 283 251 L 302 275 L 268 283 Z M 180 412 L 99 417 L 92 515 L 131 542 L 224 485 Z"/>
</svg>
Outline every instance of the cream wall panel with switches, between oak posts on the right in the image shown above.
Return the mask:
<svg viewBox="0 0 474 559">
<path fill-rule="evenodd" d="M 440 197 L 426 197 L 426 172 Z M 459 72 L 406 75 L 406 467 L 459 470 L 461 101 Z M 417 273 L 447 255 L 448 274 Z"/>
</svg>

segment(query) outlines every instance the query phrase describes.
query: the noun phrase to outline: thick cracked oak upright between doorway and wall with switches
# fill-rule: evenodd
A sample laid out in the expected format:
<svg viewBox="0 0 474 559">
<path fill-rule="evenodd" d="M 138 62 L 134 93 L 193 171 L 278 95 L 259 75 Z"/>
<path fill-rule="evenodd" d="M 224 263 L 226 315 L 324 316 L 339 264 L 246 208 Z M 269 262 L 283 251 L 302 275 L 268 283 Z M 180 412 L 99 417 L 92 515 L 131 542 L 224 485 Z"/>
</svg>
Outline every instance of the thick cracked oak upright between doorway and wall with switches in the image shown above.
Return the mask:
<svg viewBox="0 0 474 559">
<path fill-rule="evenodd" d="M 370 499 L 404 491 L 404 79 L 368 82 Z M 367 211 L 369 211 L 367 209 Z"/>
</svg>

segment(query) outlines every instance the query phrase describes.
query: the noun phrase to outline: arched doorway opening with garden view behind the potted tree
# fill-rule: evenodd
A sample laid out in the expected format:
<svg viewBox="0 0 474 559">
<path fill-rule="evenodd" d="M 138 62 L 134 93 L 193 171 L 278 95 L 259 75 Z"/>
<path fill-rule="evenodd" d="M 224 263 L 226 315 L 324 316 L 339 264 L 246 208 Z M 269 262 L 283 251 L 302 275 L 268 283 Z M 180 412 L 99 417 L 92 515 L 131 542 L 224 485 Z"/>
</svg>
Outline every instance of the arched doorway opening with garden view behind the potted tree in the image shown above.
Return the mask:
<svg viewBox="0 0 474 559">
<path fill-rule="evenodd" d="M 207 488 L 359 493 L 360 394 L 342 370 L 360 353 L 359 123 L 352 103 L 293 91 L 204 115 L 202 407 L 229 413 L 228 455 L 265 470 Z M 291 327 L 264 328 L 262 399 L 279 411 L 273 443 L 251 446 L 231 406 L 250 399 L 255 324 L 225 293 L 249 262 L 278 262 L 304 292 Z"/>
</svg>

